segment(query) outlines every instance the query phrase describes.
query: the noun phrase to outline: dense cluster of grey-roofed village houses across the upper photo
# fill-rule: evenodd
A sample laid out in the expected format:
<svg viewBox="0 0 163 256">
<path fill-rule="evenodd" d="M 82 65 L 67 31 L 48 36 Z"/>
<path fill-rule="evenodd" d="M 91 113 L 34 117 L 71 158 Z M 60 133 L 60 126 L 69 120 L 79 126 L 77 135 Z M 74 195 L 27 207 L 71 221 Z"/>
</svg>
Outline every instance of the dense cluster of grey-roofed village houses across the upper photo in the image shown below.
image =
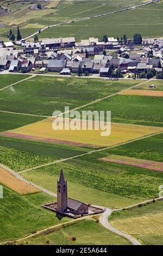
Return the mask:
<svg viewBox="0 0 163 256">
<path fill-rule="evenodd" d="M 106 43 L 94 37 L 79 43 L 74 37 L 42 39 L 36 43 L 22 41 L 17 47 L 0 39 L 0 71 L 104 77 L 147 74 L 153 70 L 158 74 L 162 73 L 162 54 L 163 39 L 144 40 L 139 47 L 129 40 L 120 43 L 113 37 Z"/>
</svg>

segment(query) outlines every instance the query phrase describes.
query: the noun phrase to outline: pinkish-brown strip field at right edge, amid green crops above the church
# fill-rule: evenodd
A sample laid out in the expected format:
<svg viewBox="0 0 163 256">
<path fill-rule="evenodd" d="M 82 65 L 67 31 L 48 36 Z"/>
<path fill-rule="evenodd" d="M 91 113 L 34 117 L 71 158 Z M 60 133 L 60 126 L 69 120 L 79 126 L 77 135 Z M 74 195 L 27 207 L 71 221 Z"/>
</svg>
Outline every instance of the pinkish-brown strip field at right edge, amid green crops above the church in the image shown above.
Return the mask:
<svg viewBox="0 0 163 256">
<path fill-rule="evenodd" d="M 130 166 L 145 168 L 145 169 L 154 170 L 154 171 L 163 171 L 163 163 L 144 160 L 144 159 L 137 159 L 134 157 L 124 157 L 124 156 L 111 154 L 108 157 L 99 158 L 99 160 L 103 160 L 105 162 L 117 163 L 117 164 L 126 164 Z"/>
</svg>

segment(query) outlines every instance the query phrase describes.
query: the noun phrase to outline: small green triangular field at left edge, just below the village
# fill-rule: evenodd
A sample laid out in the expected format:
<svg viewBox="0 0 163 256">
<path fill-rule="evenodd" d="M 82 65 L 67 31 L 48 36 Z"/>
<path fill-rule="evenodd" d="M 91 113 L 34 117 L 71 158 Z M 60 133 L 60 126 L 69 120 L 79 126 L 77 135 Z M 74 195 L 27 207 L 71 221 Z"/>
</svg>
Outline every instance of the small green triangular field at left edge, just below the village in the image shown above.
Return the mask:
<svg viewBox="0 0 163 256">
<path fill-rule="evenodd" d="M 14 75 L 1 75 L 0 78 L 1 78 L 1 84 L 0 84 L 0 89 L 4 88 L 5 86 L 8 86 L 8 85 L 11 85 L 11 84 L 14 84 L 15 82 L 18 82 L 18 81 L 21 81 L 23 79 L 26 79 L 28 78 L 29 75 L 17 75 L 17 74 L 14 74 Z M 11 88 L 8 89 L 11 91 Z"/>
</svg>

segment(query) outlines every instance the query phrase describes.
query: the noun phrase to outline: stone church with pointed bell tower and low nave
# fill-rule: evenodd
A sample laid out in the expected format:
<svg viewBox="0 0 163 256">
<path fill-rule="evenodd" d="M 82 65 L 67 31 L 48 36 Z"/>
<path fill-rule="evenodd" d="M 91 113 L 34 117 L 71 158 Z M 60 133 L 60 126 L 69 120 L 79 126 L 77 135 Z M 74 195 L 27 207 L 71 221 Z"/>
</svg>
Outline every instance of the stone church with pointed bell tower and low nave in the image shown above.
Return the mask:
<svg viewBox="0 0 163 256">
<path fill-rule="evenodd" d="M 89 205 L 80 201 L 67 198 L 67 181 L 61 169 L 59 181 L 57 182 L 57 212 L 72 213 L 73 215 L 88 214 Z"/>
</svg>

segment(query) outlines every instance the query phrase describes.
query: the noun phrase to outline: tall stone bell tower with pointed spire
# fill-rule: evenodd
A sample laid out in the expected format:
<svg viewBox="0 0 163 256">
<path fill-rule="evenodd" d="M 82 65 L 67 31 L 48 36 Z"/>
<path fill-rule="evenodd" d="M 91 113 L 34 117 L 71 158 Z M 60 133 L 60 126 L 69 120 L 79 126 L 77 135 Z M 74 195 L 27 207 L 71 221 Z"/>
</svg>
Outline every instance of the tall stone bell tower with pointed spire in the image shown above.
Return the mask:
<svg viewBox="0 0 163 256">
<path fill-rule="evenodd" d="M 67 209 L 67 181 L 61 168 L 59 181 L 57 181 L 57 211 L 63 213 Z"/>
</svg>

